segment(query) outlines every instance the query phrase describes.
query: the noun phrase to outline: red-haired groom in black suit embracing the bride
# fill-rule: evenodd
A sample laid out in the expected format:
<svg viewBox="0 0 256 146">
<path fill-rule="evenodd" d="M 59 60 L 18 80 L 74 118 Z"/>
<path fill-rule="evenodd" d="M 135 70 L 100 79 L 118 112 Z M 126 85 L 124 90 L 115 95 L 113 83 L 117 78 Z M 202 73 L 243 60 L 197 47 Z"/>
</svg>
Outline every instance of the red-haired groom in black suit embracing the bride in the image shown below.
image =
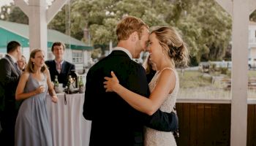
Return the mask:
<svg viewBox="0 0 256 146">
<path fill-rule="evenodd" d="M 125 88 L 149 96 L 146 72 L 132 58 L 139 58 L 146 49 L 148 26 L 140 19 L 127 17 L 116 28 L 118 45 L 106 58 L 89 69 L 83 116 L 91 120 L 90 146 L 143 146 L 143 126 L 159 131 L 173 131 L 178 127 L 176 115 L 157 110 L 148 116 L 138 112 L 116 93 L 106 93 L 104 77 L 115 72 Z"/>
</svg>

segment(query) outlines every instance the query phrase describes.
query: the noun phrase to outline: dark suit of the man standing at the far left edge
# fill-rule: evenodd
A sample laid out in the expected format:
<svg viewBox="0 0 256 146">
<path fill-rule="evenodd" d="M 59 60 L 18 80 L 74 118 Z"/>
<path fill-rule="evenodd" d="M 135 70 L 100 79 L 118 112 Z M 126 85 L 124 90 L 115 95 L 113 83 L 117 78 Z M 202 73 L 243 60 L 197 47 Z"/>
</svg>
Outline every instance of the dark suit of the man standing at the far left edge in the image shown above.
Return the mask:
<svg viewBox="0 0 256 146">
<path fill-rule="evenodd" d="M 2 145 L 14 145 L 15 121 L 21 104 L 15 100 L 15 92 L 21 72 L 9 55 L 1 58 L 0 69 L 0 142 Z"/>
</svg>

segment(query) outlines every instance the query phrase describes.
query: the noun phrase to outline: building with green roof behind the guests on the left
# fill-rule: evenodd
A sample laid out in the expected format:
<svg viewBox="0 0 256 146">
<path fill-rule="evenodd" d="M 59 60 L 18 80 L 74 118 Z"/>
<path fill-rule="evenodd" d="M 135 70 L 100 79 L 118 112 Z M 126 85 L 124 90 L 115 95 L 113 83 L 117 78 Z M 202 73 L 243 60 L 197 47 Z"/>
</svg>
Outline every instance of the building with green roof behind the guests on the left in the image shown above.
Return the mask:
<svg viewBox="0 0 256 146">
<path fill-rule="evenodd" d="M 12 23 L 0 20 L 0 58 L 7 53 L 7 43 L 15 40 L 22 45 L 23 55 L 26 59 L 29 58 L 29 26 L 26 24 Z M 48 29 L 48 58 L 53 59 L 51 45 L 53 42 L 64 42 L 67 49 L 65 50 L 65 60 L 75 64 L 77 69 L 89 65 L 91 58 L 91 50 L 94 47 L 86 45 L 78 39 L 69 37 L 59 31 Z"/>
</svg>

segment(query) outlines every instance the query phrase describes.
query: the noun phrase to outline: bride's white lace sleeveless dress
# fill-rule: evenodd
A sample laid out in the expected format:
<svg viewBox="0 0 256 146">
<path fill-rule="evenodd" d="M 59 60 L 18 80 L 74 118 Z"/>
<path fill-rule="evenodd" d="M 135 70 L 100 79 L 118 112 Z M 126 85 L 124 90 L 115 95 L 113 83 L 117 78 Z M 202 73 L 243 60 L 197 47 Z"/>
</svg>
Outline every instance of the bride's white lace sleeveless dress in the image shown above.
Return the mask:
<svg viewBox="0 0 256 146">
<path fill-rule="evenodd" d="M 170 68 L 165 68 L 170 69 Z M 164 69 L 162 69 L 164 70 Z M 175 73 L 176 84 L 173 89 L 173 92 L 168 94 L 165 101 L 162 103 L 160 110 L 162 112 L 171 112 L 173 107 L 176 104 L 176 97 L 179 89 L 179 80 L 178 73 L 175 69 L 171 69 Z M 162 71 L 157 72 L 149 83 L 149 89 L 152 92 L 154 90 L 155 85 L 157 84 L 157 80 Z M 172 132 L 164 132 L 157 131 L 152 128 L 145 128 L 145 146 L 176 146 L 176 141 L 173 137 Z"/>
</svg>

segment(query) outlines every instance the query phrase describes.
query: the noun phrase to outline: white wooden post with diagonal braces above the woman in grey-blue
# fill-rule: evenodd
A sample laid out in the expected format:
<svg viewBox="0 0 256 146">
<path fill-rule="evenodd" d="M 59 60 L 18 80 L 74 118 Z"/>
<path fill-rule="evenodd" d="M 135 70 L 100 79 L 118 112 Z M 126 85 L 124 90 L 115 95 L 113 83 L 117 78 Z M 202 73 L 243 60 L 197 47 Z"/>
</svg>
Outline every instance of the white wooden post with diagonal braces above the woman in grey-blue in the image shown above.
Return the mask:
<svg viewBox="0 0 256 146">
<path fill-rule="evenodd" d="M 67 1 L 69 0 L 55 0 L 49 9 L 46 9 L 45 0 L 29 0 L 29 4 L 23 0 L 14 0 L 15 4 L 29 17 L 30 51 L 40 48 L 45 52 L 45 59 L 48 58 L 47 24 Z"/>
</svg>

